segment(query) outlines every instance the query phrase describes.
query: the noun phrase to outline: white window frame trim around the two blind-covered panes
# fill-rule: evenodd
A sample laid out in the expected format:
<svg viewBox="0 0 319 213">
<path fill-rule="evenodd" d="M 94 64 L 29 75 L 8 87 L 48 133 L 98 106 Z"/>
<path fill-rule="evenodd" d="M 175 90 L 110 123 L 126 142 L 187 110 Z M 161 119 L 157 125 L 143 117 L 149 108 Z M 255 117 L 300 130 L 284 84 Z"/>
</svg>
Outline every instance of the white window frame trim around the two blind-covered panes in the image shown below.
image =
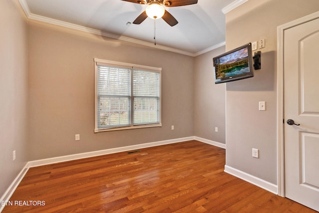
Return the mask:
<svg viewBox="0 0 319 213">
<path fill-rule="evenodd" d="M 114 67 L 122 67 L 122 68 L 130 68 L 131 69 L 131 111 L 130 111 L 130 119 L 131 124 L 130 126 L 123 126 L 123 127 L 106 127 L 106 128 L 99 128 L 98 127 L 98 65 L 105 65 L 105 66 L 114 66 Z M 159 123 L 150 123 L 150 124 L 134 124 L 133 123 L 133 116 L 134 116 L 134 95 L 133 95 L 133 70 L 143 70 L 143 71 L 151 71 L 159 73 L 160 77 L 160 97 L 159 97 Z M 125 62 L 118 62 L 118 61 L 110 61 L 104 60 L 99 58 L 94 58 L 94 132 L 106 132 L 106 131 L 116 131 L 116 130 L 128 130 L 128 129 L 140 129 L 140 128 L 150 128 L 150 127 L 161 127 L 161 68 L 160 67 L 151 67 L 151 66 L 144 66 L 139 64 L 131 64 Z"/>
</svg>

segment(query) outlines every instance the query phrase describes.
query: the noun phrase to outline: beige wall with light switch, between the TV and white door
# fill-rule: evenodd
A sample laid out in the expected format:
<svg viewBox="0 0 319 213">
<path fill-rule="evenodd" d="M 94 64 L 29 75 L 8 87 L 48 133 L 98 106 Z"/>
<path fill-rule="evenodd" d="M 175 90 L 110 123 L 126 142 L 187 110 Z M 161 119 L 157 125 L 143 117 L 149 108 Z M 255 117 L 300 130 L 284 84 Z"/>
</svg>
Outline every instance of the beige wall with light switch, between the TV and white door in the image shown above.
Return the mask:
<svg viewBox="0 0 319 213">
<path fill-rule="evenodd" d="M 249 0 L 226 14 L 226 50 L 266 39 L 262 69 L 226 85 L 227 166 L 277 184 L 277 26 L 318 10 L 318 0 Z"/>
</svg>

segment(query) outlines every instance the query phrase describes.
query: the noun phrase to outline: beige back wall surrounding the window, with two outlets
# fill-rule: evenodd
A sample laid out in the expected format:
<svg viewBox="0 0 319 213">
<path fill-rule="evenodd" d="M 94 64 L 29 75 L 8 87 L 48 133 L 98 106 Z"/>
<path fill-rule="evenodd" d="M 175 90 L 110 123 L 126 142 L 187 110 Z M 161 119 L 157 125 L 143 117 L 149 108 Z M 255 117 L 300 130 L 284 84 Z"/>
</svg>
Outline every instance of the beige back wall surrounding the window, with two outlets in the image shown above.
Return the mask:
<svg viewBox="0 0 319 213">
<path fill-rule="evenodd" d="M 193 57 L 31 20 L 28 38 L 28 160 L 194 135 Z M 94 57 L 162 68 L 162 127 L 94 133 Z"/>
</svg>

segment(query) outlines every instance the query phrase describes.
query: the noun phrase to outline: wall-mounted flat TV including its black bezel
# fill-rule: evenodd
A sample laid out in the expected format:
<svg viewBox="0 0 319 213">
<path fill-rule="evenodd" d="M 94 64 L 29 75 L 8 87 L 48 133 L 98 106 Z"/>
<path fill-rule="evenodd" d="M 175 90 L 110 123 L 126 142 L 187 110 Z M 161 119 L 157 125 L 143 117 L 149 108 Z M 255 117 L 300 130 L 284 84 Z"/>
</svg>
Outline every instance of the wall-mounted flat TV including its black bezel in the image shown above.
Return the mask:
<svg viewBox="0 0 319 213">
<path fill-rule="evenodd" d="M 254 76 L 251 43 L 213 58 L 215 84 Z"/>
</svg>

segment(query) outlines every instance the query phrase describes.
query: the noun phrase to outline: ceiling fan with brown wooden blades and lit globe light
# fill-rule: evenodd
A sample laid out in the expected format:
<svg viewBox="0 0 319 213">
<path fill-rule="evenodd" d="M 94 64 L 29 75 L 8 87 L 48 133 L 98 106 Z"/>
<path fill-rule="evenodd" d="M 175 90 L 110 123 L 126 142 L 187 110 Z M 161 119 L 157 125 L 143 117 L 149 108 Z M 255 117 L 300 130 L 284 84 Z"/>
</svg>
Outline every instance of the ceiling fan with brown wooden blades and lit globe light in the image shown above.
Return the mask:
<svg viewBox="0 0 319 213">
<path fill-rule="evenodd" d="M 164 6 L 185 6 L 197 3 L 197 0 L 124 0 L 139 4 L 148 4 L 146 10 L 142 12 L 134 21 L 135 24 L 142 23 L 147 17 L 158 19 L 163 18 L 170 26 L 174 26 L 178 21 L 166 10 Z"/>
</svg>

